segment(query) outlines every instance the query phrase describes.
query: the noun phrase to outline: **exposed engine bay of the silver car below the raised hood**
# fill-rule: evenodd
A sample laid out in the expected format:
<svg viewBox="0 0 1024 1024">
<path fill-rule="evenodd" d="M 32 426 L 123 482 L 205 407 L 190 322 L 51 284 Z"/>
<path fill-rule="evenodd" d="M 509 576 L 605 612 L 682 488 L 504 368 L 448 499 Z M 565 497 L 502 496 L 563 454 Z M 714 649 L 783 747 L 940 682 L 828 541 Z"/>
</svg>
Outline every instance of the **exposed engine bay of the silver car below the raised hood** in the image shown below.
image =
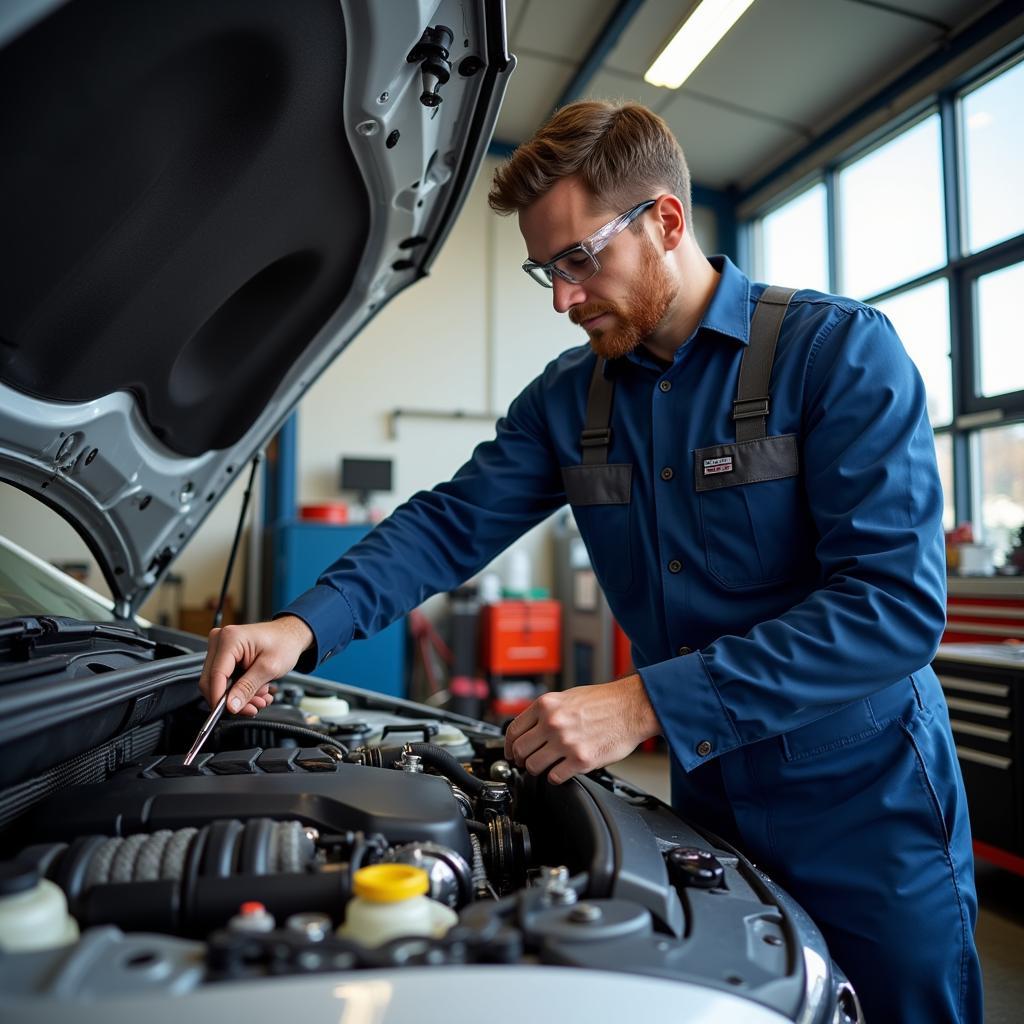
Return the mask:
<svg viewBox="0 0 1024 1024">
<path fill-rule="evenodd" d="M 206 711 L 193 689 L 44 772 L 31 806 L 32 780 L 0 793 L 0 889 L 51 883 L 78 933 L 0 954 L 0 989 L 546 964 L 696 982 L 796 1018 L 809 986 L 831 987 L 799 906 L 606 771 L 553 785 L 505 760 L 496 726 L 302 676 L 256 719 L 222 720 L 186 766 Z M 90 756 L 102 769 L 77 781 Z M 383 942 L 346 931 L 375 865 L 422 869 L 454 924 Z"/>
</svg>

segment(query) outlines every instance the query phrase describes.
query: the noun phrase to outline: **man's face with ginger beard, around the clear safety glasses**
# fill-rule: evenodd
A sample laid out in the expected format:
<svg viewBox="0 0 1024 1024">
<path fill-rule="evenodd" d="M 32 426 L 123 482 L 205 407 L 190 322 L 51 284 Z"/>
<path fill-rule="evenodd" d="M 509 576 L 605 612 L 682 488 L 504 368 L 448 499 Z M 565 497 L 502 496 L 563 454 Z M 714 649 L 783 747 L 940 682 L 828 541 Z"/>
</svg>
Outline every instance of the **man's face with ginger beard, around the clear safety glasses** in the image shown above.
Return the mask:
<svg viewBox="0 0 1024 1024">
<path fill-rule="evenodd" d="M 519 213 L 531 259 L 544 262 L 587 238 L 623 210 L 595 211 L 574 178 L 563 178 Z M 578 285 L 555 275 L 552 302 L 587 332 L 598 355 L 625 355 L 665 319 L 679 286 L 646 230 L 627 228 L 598 254 L 601 269 Z"/>
</svg>

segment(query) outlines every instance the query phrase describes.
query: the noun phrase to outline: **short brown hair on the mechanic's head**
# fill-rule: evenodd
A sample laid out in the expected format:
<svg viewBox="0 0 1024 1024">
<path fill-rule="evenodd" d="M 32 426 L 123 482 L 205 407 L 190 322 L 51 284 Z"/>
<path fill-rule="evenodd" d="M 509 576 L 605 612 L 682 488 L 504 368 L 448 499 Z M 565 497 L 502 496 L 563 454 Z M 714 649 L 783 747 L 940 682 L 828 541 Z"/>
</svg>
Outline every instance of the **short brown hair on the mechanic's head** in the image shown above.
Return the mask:
<svg viewBox="0 0 1024 1024">
<path fill-rule="evenodd" d="M 495 171 L 487 203 L 503 216 L 518 213 L 570 174 L 607 210 L 670 191 L 691 222 L 683 151 L 669 126 L 639 103 L 584 99 L 556 111 Z"/>
</svg>

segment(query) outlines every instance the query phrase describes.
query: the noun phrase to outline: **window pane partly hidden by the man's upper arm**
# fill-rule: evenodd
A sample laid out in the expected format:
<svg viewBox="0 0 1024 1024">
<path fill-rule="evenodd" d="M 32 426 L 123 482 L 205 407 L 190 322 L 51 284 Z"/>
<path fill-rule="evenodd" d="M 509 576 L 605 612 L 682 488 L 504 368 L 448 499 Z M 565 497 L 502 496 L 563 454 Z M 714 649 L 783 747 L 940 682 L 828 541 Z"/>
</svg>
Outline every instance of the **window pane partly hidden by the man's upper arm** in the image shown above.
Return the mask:
<svg viewBox="0 0 1024 1024">
<path fill-rule="evenodd" d="M 928 392 L 934 427 L 953 418 L 953 375 L 949 360 L 949 285 L 943 278 L 878 304 L 893 323 Z"/>
</svg>

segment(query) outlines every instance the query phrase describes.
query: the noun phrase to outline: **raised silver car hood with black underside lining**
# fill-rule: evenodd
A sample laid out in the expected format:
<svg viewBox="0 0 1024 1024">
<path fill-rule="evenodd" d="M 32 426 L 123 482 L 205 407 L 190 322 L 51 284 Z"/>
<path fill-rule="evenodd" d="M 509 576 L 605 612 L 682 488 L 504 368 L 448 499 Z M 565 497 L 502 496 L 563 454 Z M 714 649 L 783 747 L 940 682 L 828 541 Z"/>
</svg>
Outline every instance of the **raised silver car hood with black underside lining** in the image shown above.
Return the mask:
<svg viewBox="0 0 1024 1024">
<path fill-rule="evenodd" d="M 501 0 L 0 8 L 0 478 L 120 614 L 427 272 L 513 67 Z"/>
</svg>

